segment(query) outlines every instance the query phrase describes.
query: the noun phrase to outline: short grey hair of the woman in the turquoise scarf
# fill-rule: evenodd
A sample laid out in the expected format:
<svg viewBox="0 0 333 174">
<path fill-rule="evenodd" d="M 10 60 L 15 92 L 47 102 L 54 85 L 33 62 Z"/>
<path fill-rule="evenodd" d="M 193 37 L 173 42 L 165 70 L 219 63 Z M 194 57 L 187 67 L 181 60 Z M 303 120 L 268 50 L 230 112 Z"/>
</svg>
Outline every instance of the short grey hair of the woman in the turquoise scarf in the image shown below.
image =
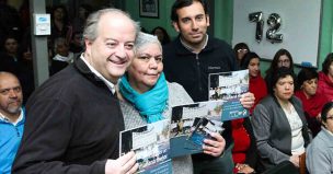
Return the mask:
<svg viewBox="0 0 333 174">
<path fill-rule="evenodd" d="M 157 44 L 162 50 L 162 45 L 157 36 L 140 32 L 135 43 L 136 53 L 147 44 Z"/>
</svg>

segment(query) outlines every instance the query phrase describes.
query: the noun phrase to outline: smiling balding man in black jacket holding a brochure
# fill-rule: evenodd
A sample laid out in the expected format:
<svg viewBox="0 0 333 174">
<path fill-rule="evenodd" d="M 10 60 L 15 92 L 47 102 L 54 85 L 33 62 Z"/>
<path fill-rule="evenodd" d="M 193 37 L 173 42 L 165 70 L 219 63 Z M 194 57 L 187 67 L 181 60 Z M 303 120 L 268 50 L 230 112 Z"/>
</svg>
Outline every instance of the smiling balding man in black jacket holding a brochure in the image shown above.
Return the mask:
<svg viewBox="0 0 333 174">
<path fill-rule="evenodd" d="M 135 173 L 134 152 L 118 158 L 124 119 L 114 95 L 134 57 L 139 26 L 104 9 L 84 28 L 85 51 L 30 97 L 13 173 Z"/>
</svg>

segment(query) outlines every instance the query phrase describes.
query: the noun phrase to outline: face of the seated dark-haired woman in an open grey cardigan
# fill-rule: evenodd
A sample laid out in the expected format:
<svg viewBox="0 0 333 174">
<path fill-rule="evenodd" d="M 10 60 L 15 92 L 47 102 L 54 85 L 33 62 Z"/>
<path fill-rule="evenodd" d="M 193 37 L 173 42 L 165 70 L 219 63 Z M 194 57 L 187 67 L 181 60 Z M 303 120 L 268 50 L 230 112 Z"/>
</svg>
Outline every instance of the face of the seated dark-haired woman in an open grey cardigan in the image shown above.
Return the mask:
<svg viewBox="0 0 333 174">
<path fill-rule="evenodd" d="M 274 94 L 280 101 L 288 101 L 294 94 L 294 79 L 291 76 L 279 78 L 274 86 Z"/>
</svg>

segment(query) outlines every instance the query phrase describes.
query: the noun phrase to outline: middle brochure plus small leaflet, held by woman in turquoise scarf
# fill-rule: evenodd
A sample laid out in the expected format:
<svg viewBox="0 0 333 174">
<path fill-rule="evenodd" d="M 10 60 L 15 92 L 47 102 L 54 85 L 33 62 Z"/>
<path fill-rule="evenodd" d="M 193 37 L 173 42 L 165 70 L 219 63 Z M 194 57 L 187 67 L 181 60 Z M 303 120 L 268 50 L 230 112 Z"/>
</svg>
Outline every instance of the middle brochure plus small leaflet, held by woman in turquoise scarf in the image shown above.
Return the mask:
<svg viewBox="0 0 333 174">
<path fill-rule="evenodd" d="M 209 132 L 223 130 L 222 101 L 199 102 L 172 107 L 170 146 L 171 158 L 203 152 Z"/>
</svg>

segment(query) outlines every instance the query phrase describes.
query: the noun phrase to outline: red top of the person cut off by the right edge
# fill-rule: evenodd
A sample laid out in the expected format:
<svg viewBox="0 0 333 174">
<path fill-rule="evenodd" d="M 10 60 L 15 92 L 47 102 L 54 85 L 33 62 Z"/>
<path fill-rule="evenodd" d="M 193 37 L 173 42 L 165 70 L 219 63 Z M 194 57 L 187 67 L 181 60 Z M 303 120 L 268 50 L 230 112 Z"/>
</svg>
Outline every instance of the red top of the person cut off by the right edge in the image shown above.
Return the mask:
<svg viewBox="0 0 333 174">
<path fill-rule="evenodd" d="M 322 71 L 319 72 L 318 92 L 333 101 L 333 81 Z"/>
</svg>

